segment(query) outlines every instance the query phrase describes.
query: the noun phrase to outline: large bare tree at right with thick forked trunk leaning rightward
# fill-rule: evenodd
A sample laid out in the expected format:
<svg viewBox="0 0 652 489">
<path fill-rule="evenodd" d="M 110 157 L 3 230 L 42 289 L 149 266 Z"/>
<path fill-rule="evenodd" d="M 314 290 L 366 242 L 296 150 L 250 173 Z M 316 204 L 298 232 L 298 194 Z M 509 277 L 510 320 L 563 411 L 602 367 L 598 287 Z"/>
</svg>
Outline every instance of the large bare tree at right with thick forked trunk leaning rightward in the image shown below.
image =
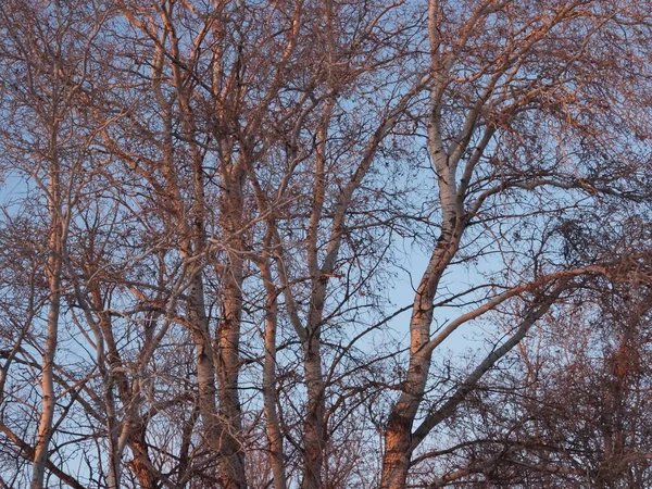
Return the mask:
<svg viewBox="0 0 652 489">
<path fill-rule="evenodd" d="M 416 290 L 408 377 L 385 435 L 384 488 L 404 487 L 412 452 L 561 292 L 576 286 L 570 277 L 607 275 L 615 265 L 613 256 L 565 263 L 548 253 L 549 243 L 543 240 L 529 260 L 527 251 L 517 256 L 522 250 L 500 235 L 503 226 L 513 227 L 518 241 L 539 240 L 525 229 L 528 224 L 536 223 L 535 233 L 541 233 L 551 220 L 580 212 L 586 200 L 600 204 L 600 199 L 649 195 L 647 186 L 627 183 L 631 168 L 647 162 L 643 145 L 630 146 L 631 133 L 647 134 L 639 120 L 631 117 L 644 100 L 640 97 L 644 98 L 645 78 L 635 73 L 647 71 L 641 57 L 648 40 L 645 14 L 602 2 L 515 5 L 487 1 L 467 7 L 429 2 L 434 80 L 427 140 L 438 184 L 441 230 Z M 632 46 L 625 54 L 615 41 L 620 36 Z M 604 161 L 610 162 L 609 168 L 600 164 Z M 528 208 L 534 209 L 531 220 Z M 514 214 L 521 223 L 512 224 Z M 498 231 L 496 238 L 473 233 L 473 227 L 484 226 Z M 502 291 L 431 337 L 440 281 L 465 238 L 481 242 L 485 253 L 500 251 L 507 280 L 489 283 Z M 547 291 L 550 287 L 552 291 Z M 535 297 L 517 319 L 521 324 L 514 335 L 439 406 L 426 408 L 413 432 L 434 351 L 462 324 L 525 291 Z"/>
</svg>

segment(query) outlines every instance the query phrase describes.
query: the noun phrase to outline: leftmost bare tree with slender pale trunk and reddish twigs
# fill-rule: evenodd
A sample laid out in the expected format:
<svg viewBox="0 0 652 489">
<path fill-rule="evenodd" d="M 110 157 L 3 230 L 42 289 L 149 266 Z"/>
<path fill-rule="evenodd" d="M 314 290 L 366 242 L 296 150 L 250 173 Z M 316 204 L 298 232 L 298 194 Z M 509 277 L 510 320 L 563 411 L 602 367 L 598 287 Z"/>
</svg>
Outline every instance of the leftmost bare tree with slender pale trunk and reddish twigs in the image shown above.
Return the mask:
<svg viewBox="0 0 652 489">
<path fill-rule="evenodd" d="M 28 216 L 33 220 L 28 225 L 32 230 L 47 237 L 37 243 L 39 248 L 30 250 L 43 256 L 37 259 L 40 271 L 30 272 L 42 274 L 47 284 L 48 292 L 42 297 L 42 303 L 33 303 L 40 296 L 34 288 L 43 288 L 45 284 L 36 277 L 30 284 L 23 284 L 28 287 L 32 298 L 28 317 L 35 322 L 35 327 L 40 325 L 39 311 L 34 308 L 47 308 L 45 344 L 33 343 L 41 356 L 41 408 L 36 441 L 34 448 L 21 443 L 24 455 L 34 460 L 32 487 L 35 489 L 43 487 L 46 468 L 52 464 L 49 450 L 54 434 L 57 400 L 61 396 L 55 389 L 55 355 L 67 241 L 80 196 L 89 181 L 87 153 L 92 135 L 80 124 L 87 117 L 88 109 L 79 105 L 77 92 L 91 70 L 85 48 L 97 36 L 102 21 L 89 21 L 98 13 L 92 8 L 73 12 L 75 8 L 74 4 L 53 5 L 46 14 L 33 5 L 10 2 L 0 11 L 5 38 L 2 64 L 7 70 L 3 78 L 3 118 L 8 123 L 2 134 L 3 166 L 20 178 L 27 178 L 35 186 L 34 197 L 47 209 L 46 216 L 38 211 Z M 46 15 L 52 21 L 48 22 Z M 10 214 L 8 217 L 10 225 L 14 220 L 21 221 L 21 216 L 16 218 Z M 9 266 L 12 265 L 10 262 Z M 23 329 L 14 343 L 5 372 L 21 348 L 25 333 Z M 32 335 L 36 334 L 32 331 Z M 7 425 L 3 428 L 7 436 L 18 439 Z"/>
</svg>

